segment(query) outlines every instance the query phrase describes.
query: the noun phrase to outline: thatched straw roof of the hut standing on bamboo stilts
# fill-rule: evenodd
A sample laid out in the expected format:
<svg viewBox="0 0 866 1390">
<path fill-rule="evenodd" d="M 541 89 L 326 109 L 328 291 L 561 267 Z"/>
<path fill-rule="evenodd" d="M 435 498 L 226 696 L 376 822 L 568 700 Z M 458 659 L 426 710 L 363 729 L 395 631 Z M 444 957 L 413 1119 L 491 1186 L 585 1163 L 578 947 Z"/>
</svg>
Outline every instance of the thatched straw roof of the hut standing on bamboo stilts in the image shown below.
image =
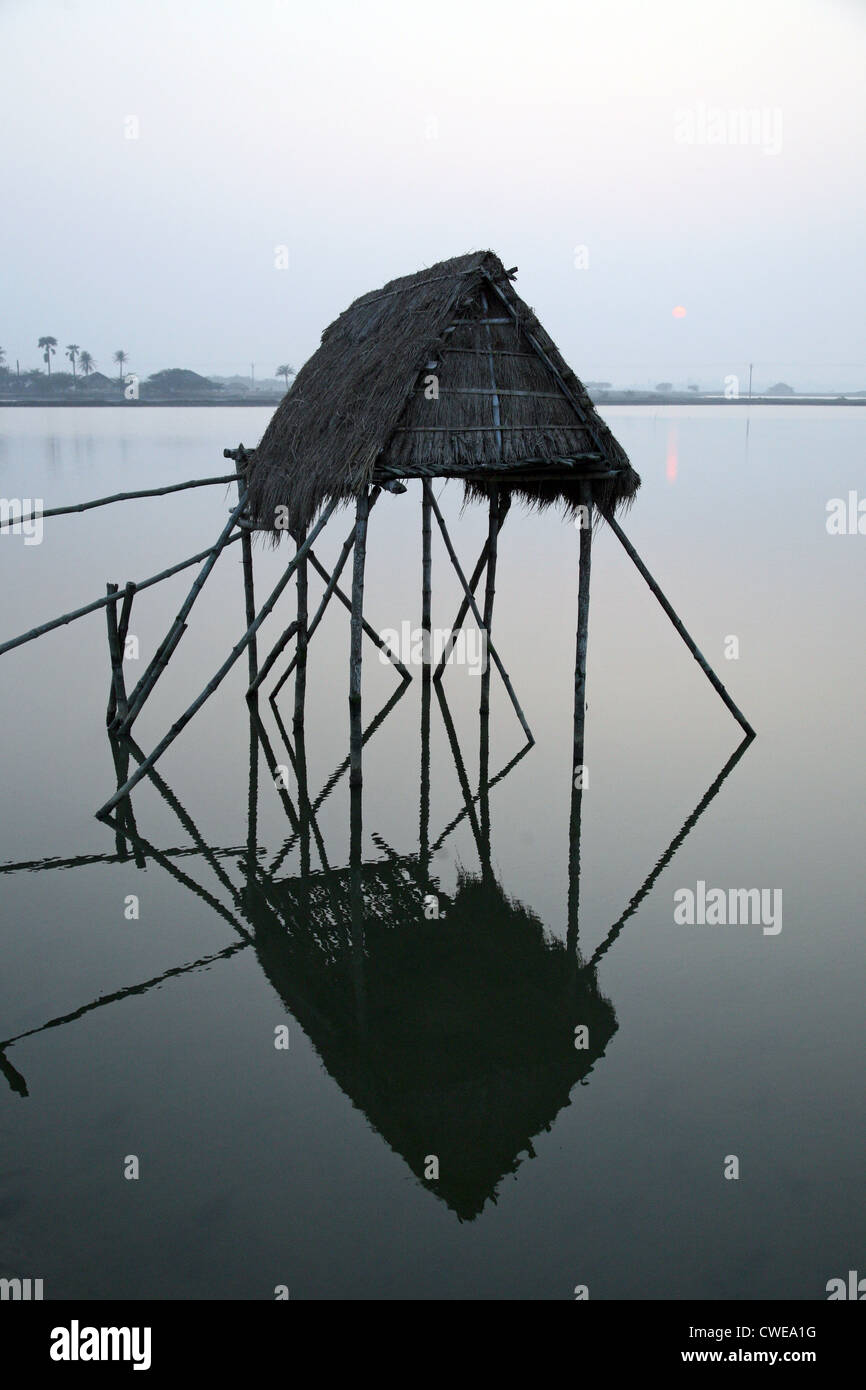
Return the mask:
<svg viewBox="0 0 866 1390">
<path fill-rule="evenodd" d="M 441 261 L 356 299 L 325 329 L 250 460 L 250 514 L 310 524 L 332 496 L 402 478 L 505 485 L 602 509 L 637 473 L 492 252 Z M 435 378 L 435 379 L 431 379 Z"/>
</svg>

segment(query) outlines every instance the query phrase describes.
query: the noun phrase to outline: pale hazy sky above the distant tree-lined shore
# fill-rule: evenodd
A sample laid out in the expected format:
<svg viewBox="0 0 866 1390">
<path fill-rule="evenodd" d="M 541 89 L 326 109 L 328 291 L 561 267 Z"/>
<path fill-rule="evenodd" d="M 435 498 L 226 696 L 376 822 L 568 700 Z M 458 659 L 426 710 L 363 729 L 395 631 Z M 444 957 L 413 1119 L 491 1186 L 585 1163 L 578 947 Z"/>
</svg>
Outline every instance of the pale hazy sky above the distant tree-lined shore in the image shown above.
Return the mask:
<svg viewBox="0 0 866 1390">
<path fill-rule="evenodd" d="M 0 343 L 271 375 L 489 246 L 584 378 L 866 388 L 865 74 L 866 0 L 0 0 Z"/>
</svg>

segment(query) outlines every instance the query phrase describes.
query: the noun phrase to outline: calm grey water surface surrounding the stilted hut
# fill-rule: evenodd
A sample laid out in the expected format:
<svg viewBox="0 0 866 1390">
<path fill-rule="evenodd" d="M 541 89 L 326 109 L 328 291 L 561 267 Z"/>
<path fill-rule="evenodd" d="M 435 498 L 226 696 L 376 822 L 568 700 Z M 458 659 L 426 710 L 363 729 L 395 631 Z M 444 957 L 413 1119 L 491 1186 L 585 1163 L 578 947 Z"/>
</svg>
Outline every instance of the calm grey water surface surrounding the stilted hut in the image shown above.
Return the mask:
<svg viewBox="0 0 866 1390">
<path fill-rule="evenodd" d="M 310 649 L 296 766 L 292 681 L 284 730 L 264 699 L 252 739 L 239 662 L 161 781 L 136 788 L 138 862 L 93 816 L 117 784 L 104 614 L 3 657 L 0 1040 L 15 1041 L 0 1056 L 0 1275 L 42 1277 L 50 1298 L 286 1284 L 292 1298 L 546 1300 L 587 1284 L 591 1298 L 813 1300 L 863 1268 L 866 537 L 824 521 L 828 499 L 866 496 L 866 416 L 606 416 L 644 478 L 628 534 L 758 738 L 728 766 L 738 726 L 599 532 L 577 958 L 578 538 L 559 516 L 513 507 L 499 552 L 495 639 L 535 745 L 513 762 L 524 739 L 493 674 L 491 774 L 513 766 L 488 827 L 473 799 L 480 681 L 452 666 L 425 816 L 414 680 L 364 748 L 354 899 L 341 605 Z M 0 493 L 50 507 L 220 474 L 222 448 L 254 443 L 267 417 L 1 410 Z M 33 546 L 0 535 L 0 634 L 203 549 L 232 498 L 49 520 Z M 463 512 L 453 484 L 441 505 L 468 570 L 485 514 Z M 349 530 L 342 512 L 317 546 L 328 567 Z M 139 719 L 145 751 L 243 631 L 239 562 L 235 546 L 217 564 Z M 284 563 L 257 546 L 260 596 Z M 193 573 L 136 598 L 128 681 Z M 435 538 L 435 626 L 459 599 Z M 292 612 L 289 592 L 261 651 Z M 420 620 L 417 486 L 371 517 L 366 613 L 379 630 Z M 399 680 L 370 644 L 364 662 L 370 723 Z M 781 931 L 676 923 L 674 892 L 698 881 L 781 890 Z"/>
</svg>

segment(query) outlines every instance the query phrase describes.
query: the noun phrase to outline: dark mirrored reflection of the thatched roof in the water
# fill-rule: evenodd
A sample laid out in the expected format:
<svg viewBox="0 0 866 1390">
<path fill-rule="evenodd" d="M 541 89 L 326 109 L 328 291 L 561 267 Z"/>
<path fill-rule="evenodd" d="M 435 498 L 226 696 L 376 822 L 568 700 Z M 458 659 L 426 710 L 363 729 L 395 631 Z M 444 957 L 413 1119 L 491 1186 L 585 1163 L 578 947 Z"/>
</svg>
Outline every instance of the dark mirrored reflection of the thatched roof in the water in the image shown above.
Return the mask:
<svg viewBox="0 0 866 1390">
<path fill-rule="evenodd" d="M 349 1098 L 471 1219 L 569 1104 L 616 1015 L 595 973 L 489 877 L 436 894 L 432 919 L 416 860 L 364 863 L 359 880 L 353 912 L 350 870 L 257 877 L 256 954 Z"/>
</svg>

